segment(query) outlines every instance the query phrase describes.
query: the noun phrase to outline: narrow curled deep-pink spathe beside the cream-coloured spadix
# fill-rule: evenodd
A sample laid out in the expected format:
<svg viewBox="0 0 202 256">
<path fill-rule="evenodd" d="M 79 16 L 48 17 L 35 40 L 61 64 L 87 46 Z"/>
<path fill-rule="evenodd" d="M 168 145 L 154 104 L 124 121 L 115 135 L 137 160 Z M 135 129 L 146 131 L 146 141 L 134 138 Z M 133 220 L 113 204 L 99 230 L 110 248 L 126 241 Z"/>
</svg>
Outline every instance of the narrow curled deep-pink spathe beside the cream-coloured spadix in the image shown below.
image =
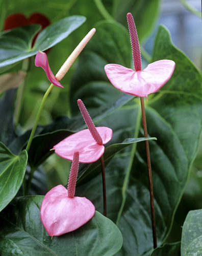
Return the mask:
<svg viewBox="0 0 202 256">
<path fill-rule="evenodd" d="M 46 76 L 51 83 L 53 83 L 55 86 L 64 88 L 51 71 L 48 64 L 47 55 L 44 52 L 39 51 L 37 53 L 35 57 L 35 66 L 41 67 L 45 70 Z"/>
</svg>

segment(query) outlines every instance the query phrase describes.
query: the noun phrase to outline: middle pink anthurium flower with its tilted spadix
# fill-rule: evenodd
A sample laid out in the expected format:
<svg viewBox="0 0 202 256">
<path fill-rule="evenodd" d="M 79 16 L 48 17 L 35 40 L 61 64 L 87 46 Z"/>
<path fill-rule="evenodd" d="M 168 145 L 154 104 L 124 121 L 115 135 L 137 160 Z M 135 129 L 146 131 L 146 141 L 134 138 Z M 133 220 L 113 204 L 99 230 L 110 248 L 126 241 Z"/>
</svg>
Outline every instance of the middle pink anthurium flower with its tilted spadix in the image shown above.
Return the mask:
<svg viewBox="0 0 202 256">
<path fill-rule="evenodd" d="M 75 151 L 79 152 L 81 163 L 97 161 L 105 151 L 105 146 L 112 138 L 112 130 L 108 127 L 95 127 L 81 99 L 78 105 L 88 129 L 72 134 L 53 148 L 60 157 L 72 160 Z"/>
</svg>

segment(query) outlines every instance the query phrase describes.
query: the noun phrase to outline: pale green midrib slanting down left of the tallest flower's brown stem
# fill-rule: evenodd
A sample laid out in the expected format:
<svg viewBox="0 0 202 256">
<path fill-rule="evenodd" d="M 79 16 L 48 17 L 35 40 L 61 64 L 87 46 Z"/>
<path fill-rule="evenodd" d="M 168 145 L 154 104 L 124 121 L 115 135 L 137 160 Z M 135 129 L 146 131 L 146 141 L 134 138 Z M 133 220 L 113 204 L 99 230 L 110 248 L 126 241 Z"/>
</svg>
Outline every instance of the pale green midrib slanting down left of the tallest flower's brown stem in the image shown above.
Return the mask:
<svg viewBox="0 0 202 256">
<path fill-rule="evenodd" d="M 140 122 L 141 122 L 141 108 L 139 108 L 139 110 L 138 110 L 134 138 L 138 137 L 138 133 L 139 133 L 139 129 L 140 129 Z M 116 220 L 116 225 L 117 226 L 118 226 L 118 223 L 119 223 L 122 211 L 123 211 L 123 207 L 124 207 L 124 204 L 125 204 L 125 199 L 126 199 L 125 193 L 126 193 L 126 190 L 128 188 L 128 184 L 129 184 L 129 178 L 130 178 L 131 168 L 132 168 L 132 164 L 133 164 L 133 160 L 134 160 L 134 156 L 135 156 L 135 152 L 136 152 L 136 147 L 137 147 L 137 143 L 134 143 L 133 147 L 132 147 L 132 151 L 131 151 L 131 159 L 130 159 L 129 167 L 127 169 L 127 173 L 126 173 L 124 181 L 123 181 L 122 203 L 121 203 L 121 207 L 120 207 L 120 210 L 118 212 L 118 217 L 117 217 L 117 220 Z"/>
</svg>

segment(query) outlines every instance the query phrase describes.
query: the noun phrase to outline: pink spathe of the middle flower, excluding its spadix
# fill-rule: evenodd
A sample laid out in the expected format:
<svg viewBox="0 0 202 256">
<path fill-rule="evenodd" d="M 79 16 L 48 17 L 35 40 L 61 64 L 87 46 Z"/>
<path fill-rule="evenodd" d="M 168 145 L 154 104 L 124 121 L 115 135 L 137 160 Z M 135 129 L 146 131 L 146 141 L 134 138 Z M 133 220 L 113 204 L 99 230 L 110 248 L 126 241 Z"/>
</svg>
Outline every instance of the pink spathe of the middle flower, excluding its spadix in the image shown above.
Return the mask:
<svg viewBox="0 0 202 256">
<path fill-rule="evenodd" d="M 108 127 L 96 127 L 99 135 L 103 139 L 103 144 L 112 138 L 112 130 Z M 75 151 L 79 152 L 80 163 L 92 163 L 97 161 L 105 152 L 105 147 L 99 145 L 92 137 L 88 129 L 72 134 L 59 142 L 54 147 L 55 153 L 60 157 L 73 160 Z"/>
</svg>

